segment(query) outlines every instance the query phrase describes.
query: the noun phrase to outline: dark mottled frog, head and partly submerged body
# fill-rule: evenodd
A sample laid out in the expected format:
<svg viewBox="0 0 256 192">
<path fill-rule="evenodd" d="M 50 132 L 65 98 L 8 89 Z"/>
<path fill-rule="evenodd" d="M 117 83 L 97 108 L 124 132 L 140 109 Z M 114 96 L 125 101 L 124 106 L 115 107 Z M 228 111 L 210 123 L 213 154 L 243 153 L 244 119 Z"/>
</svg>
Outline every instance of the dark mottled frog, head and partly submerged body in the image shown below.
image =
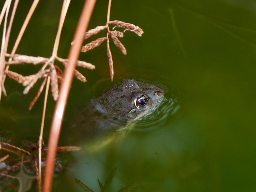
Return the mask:
<svg viewBox="0 0 256 192">
<path fill-rule="evenodd" d="M 116 133 L 128 131 L 129 124 L 154 111 L 163 98 L 164 91 L 154 85 L 124 80 L 79 107 L 71 132 L 78 142 L 112 138 Z"/>
</svg>

